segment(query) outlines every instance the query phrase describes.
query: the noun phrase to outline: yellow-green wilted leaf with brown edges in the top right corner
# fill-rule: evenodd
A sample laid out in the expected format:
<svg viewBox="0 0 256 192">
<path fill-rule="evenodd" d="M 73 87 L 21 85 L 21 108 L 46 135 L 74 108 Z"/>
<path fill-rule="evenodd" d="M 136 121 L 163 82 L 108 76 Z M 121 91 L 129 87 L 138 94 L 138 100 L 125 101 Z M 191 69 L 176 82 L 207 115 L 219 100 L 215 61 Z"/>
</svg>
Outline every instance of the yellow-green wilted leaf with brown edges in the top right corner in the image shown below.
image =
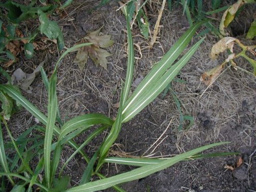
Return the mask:
<svg viewBox="0 0 256 192">
<path fill-rule="evenodd" d="M 238 9 L 245 3 L 243 0 L 239 0 L 237 3 L 231 5 L 222 15 L 221 23 L 220 23 L 220 33 L 222 35 L 227 35 L 225 33 L 225 28 L 232 22 L 234 16 L 236 15 Z"/>
</svg>

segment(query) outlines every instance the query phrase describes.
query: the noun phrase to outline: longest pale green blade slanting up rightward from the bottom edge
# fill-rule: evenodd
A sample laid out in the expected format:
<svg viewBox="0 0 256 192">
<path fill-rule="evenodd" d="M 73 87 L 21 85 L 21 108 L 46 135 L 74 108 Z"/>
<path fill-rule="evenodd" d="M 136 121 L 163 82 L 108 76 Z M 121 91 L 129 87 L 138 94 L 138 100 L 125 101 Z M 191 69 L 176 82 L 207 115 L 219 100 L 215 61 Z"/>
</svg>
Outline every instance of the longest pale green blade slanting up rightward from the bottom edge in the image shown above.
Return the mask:
<svg viewBox="0 0 256 192">
<path fill-rule="evenodd" d="M 97 190 L 103 190 L 103 189 L 109 188 L 113 185 L 120 184 L 120 183 L 129 182 L 129 181 L 133 181 L 136 179 L 141 179 L 141 178 L 151 175 L 153 173 L 159 172 L 159 170 L 162 170 L 169 166 L 172 166 L 175 163 L 178 163 L 179 161 L 181 161 L 185 158 L 188 158 L 188 157 L 198 154 L 202 151 L 205 151 L 208 148 L 218 146 L 221 144 L 226 144 L 226 143 L 228 143 L 228 142 L 220 142 L 220 143 L 214 143 L 214 144 L 202 146 L 202 147 L 196 148 L 195 150 L 191 150 L 189 152 L 177 155 L 176 157 L 174 157 L 172 159 L 167 159 L 158 164 L 139 167 L 139 168 L 131 170 L 130 172 L 127 172 L 127 173 L 123 173 L 123 174 L 119 174 L 119 175 L 116 175 L 116 176 L 113 176 L 110 178 L 86 183 L 84 185 L 80 185 L 80 186 L 68 189 L 68 190 L 66 190 L 66 192 L 79 192 L 79 191 L 92 192 L 92 191 L 97 191 Z"/>
</svg>

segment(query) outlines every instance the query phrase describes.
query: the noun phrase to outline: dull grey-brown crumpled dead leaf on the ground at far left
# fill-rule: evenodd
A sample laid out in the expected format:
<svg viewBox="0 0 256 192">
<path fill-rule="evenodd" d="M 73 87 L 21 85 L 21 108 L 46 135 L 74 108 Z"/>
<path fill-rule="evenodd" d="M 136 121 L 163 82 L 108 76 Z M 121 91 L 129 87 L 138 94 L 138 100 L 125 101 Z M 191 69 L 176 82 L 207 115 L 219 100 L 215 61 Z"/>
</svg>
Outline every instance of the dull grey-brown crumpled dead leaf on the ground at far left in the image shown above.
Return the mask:
<svg viewBox="0 0 256 192">
<path fill-rule="evenodd" d="M 40 67 L 43 65 L 44 62 L 41 62 L 31 74 L 23 72 L 23 70 L 20 68 L 16 69 L 12 75 L 13 83 L 17 84 L 20 89 L 31 93 L 32 88 L 30 88 L 30 85 L 34 81 L 36 75 L 40 72 Z"/>
</svg>

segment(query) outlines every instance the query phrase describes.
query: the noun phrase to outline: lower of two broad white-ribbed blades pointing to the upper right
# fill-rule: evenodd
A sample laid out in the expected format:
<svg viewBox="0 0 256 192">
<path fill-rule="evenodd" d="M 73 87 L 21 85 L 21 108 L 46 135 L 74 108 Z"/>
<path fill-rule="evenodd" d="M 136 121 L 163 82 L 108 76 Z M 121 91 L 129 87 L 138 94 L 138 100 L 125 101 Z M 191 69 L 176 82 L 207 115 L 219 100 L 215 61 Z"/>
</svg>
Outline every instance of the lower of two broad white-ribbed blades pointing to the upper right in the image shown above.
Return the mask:
<svg viewBox="0 0 256 192">
<path fill-rule="evenodd" d="M 153 81 L 150 88 L 144 92 L 138 93 L 140 94 L 138 99 L 133 101 L 133 103 L 129 106 L 129 109 L 123 113 L 123 122 L 127 122 L 133 118 L 166 88 L 168 83 L 170 83 L 170 81 L 172 81 L 172 79 L 186 65 L 190 57 L 194 55 L 202 41 L 203 39 L 199 40 L 177 63 L 175 63 L 174 66 L 170 67 L 166 73 L 159 78 L 159 80 Z"/>
</svg>

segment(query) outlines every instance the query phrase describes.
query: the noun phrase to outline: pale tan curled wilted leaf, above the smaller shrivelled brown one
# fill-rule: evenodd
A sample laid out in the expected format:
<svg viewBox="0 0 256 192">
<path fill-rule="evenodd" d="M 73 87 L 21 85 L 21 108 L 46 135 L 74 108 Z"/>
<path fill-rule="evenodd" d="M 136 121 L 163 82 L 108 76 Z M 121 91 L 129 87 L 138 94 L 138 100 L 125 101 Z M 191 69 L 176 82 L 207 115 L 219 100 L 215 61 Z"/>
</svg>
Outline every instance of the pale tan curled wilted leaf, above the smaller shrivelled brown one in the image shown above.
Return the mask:
<svg viewBox="0 0 256 192">
<path fill-rule="evenodd" d="M 219 40 L 211 48 L 211 53 L 210 53 L 211 59 L 216 59 L 220 53 L 224 52 L 227 49 L 229 49 L 232 53 L 234 41 L 239 41 L 239 40 L 233 37 L 224 37 L 221 40 Z"/>
</svg>

